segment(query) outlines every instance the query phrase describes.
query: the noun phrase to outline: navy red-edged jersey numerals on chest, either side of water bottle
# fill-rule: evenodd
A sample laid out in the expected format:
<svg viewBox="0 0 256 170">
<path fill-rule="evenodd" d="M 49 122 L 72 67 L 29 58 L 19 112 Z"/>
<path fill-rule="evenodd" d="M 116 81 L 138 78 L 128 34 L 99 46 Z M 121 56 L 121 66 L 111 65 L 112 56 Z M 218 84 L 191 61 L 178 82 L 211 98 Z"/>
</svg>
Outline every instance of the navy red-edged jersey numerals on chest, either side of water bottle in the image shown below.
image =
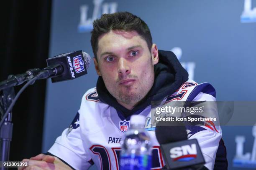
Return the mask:
<svg viewBox="0 0 256 170">
<path fill-rule="evenodd" d="M 119 170 L 119 155 L 121 152 L 121 148 L 111 148 L 113 154 L 115 156 L 115 166 L 116 169 Z M 93 154 L 98 155 L 101 163 L 101 170 L 111 170 L 110 157 L 108 154 L 108 150 L 101 145 L 92 145 L 90 148 Z M 152 148 L 152 168 L 151 170 L 161 169 L 164 166 L 164 161 L 162 158 L 161 150 L 159 146 L 154 146 Z"/>
</svg>

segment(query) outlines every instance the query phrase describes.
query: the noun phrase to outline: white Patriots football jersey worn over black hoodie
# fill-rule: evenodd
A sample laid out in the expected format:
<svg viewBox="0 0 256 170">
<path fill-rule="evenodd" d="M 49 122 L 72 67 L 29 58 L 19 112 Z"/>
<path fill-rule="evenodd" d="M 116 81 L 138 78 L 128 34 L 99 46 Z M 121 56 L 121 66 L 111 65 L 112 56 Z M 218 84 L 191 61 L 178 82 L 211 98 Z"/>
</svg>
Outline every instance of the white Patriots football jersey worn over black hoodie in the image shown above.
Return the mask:
<svg viewBox="0 0 256 170">
<path fill-rule="evenodd" d="M 173 100 L 215 101 L 215 90 L 208 83 L 184 82 L 170 94 L 165 103 Z M 217 110 L 216 110 L 217 112 Z M 152 168 L 161 169 L 164 160 L 156 140 L 155 127 L 151 125 L 151 106 L 135 114 L 146 116 L 145 129 L 151 137 Z M 114 107 L 99 100 L 96 88 L 82 97 L 81 107 L 69 128 L 59 136 L 49 153 L 61 158 L 76 170 L 89 168 L 93 163 L 98 169 L 118 170 L 120 141 L 129 128 L 125 119 Z M 193 126 L 187 128 L 188 139 L 196 138 L 205 158 L 205 166 L 212 170 L 221 138 L 219 126 Z"/>
</svg>

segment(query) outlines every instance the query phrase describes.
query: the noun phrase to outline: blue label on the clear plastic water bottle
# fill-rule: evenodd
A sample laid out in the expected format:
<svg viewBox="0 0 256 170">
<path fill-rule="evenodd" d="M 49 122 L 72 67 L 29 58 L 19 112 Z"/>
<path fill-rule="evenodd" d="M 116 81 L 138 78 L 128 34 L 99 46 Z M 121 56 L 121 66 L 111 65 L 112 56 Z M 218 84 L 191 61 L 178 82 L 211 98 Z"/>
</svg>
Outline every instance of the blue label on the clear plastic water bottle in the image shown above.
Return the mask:
<svg viewBox="0 0 256 170">
<path fill-rule="evenodd" d="M 121 155 L 120 170 L 150 170 L 151 155 Z"/>
</svg>

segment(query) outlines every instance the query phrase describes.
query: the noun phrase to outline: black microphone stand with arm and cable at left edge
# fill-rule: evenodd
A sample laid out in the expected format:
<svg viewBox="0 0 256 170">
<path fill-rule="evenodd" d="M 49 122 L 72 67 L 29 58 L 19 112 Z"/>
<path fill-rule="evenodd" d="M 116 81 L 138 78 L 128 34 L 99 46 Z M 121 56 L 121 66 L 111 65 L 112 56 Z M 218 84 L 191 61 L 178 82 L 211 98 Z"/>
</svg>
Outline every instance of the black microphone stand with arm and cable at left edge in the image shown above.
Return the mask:
<svg viewBox="0 0 256 170">
<path fill-rule="evenodd" d="M 9 75 L 8 80 L 0 82 L 0 89 L 3 89 L 3 94 L 0 95 L 0 113 L 1 120 L 0 124 L 0 162 L 9 161 L 10 157 L 10 142 L 12 140 L 13 134 L 13 122 L 12 122 L 12 107 L 20 96 L 21 92 L 32 85 L 38 79 L 46 79 L 55 77 L 58 73 L 63 72 L 63 66 L 61 64 L 50 65 L 44 70 L 30 69 L 25 74 Z M 36 76 L 35 76 L 36 75 Z M 15 79 L 12 79 L 15 78 Z M 23 82 L 29 80 L 17 93 L 15 96 L 14 87 L 15 85 L 20 85 Z M 10 107 L 10 108 L 9 108 Z M 8 113 L 7 113 L 8 112 Z M 6 168 L 0 167 L 0 170 L 5 170 Z"/>
</svg>

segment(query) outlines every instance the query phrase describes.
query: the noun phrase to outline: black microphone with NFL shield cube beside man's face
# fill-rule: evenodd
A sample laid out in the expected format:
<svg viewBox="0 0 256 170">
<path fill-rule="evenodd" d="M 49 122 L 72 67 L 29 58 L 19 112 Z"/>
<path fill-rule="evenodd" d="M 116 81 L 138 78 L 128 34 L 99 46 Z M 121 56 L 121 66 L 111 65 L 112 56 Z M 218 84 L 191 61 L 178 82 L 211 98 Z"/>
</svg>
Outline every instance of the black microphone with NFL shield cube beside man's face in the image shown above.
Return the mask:
<svg viewBox="0 0 256 170">
<path fill-rule="evenodd" d="M 38 79 L 51 77 L 51 82 L 73 80 L 87 74 L 91 57 L 82 50 L 67 52 L 46 60 L 48 67 L 36 75 Z"/>
</svg>

